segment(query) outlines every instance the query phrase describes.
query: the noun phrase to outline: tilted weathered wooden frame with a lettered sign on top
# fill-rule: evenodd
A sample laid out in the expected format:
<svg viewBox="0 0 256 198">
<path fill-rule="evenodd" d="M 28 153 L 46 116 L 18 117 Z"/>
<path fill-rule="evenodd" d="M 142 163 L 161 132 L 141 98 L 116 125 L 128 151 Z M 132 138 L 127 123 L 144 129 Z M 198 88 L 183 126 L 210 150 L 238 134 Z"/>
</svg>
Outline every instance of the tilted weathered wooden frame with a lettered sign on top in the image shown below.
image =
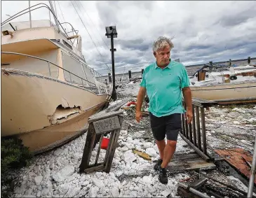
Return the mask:
<svg viewBox="0 0 256 198">
<path fill-rule="evenodd" d="M 79 167 L 80 172 L 84 171 L 86 173 L 90 173 L 93 171 L 103 170 L 109 173 L 112 166 L 117 141 L 119 139 L 121 125 L 123 122 L 123 116 L 121 114 L 121 111 L 114 111 L 105 114 L 93 115 L 89 118 L 86 144 L 83 149 L 83 157 Z M 109 143 L 107 146 L 104 161 L 98 162 L 102 139 L 105 134 L 110 134 Z M 95 146 L 99 138 L 100 141 L 97 149 L 95 162 L 93 164 L 90 164 L 93 147 Z"/>
</svg>

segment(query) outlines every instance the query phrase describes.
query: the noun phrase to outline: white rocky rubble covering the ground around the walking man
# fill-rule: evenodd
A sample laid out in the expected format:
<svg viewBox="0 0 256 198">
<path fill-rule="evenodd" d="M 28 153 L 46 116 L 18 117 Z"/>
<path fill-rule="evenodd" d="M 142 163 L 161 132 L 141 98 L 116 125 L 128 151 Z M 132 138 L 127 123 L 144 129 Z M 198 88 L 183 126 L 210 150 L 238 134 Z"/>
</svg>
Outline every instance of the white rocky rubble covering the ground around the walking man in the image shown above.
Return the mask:
<svg viewBox="0 0 256 198">
<path fill-rule="evenodd" d="M 127 97 L 130 101 L 135 100 L 138 89 L 139 83 L 123 85 L 118 89 L 119 100 Z M 147 106 L 144 110 L 147 110 Z M 34 157 L 29 167 L 10 173 L 11 177 L 16 178 L 13 197 L 177 197 L 177 182 L 185 178 L 198 178 L 198 173 L 172 173 L 168 175 L 168 185 L 159 183 L 158 175 L 153 169 L 159 152 L 151 134 L 149 117 L 144 116 L 138 124 L 134 118 L 134 106 L 122 111 L 124 120 L 121 135 L 109 174 L 100 171 L 79 174 L 86 133 L 60 148 Z M 214 154 L 213 150 L 216 148 L 234 147 L 244 148 L 252 153 L 256 134 L 256 106 L 246 104 L 212 107 L 210 111 L 206 111 L 206 130 L 210 153 Z M 151 161 L 135 155 L 133 148 L 149 154 Z M 193 150 L 179 136 L 176 153 L 191 152 Z M 100 160 L 103 157 L 104 150 L 100 154 Z M 226 176 L 218 169 L 201 173 L 246 192 L 248 190 L 237 178 Z"/>
</svg>

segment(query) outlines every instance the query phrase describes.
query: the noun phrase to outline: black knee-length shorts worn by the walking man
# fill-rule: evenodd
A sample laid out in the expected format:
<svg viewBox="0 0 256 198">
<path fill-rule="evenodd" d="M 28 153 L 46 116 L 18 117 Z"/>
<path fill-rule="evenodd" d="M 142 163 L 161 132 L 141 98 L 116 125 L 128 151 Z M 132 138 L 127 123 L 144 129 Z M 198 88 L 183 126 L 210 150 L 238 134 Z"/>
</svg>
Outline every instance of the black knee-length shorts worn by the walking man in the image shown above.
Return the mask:
<svg viewBox="0 0 256 198">
<path fill-rule="evenodd" d="M 174 113 L 163 117 L 156 117 L 150 113 L 150 125 L 157 141 L 168 139 L 177 141 L 177 136 L 182 128 L 180 113 Z"/>
</svg>

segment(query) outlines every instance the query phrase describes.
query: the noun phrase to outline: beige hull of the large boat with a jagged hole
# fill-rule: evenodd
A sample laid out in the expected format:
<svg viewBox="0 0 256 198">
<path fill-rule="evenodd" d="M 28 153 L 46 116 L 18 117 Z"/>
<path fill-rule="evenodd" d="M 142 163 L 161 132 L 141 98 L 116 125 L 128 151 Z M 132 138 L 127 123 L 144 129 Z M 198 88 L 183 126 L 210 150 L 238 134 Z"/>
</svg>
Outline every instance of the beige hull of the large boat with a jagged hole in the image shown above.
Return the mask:
<svg viewBox="0 0 256 198">
<path fill-rule="evenodd" d="M 1 136 L 18 136 L 31 151 L 47 150 L 86 129 L 108 102 L 71 83 L 24 71 L 1 70 Z"/>
</svg>

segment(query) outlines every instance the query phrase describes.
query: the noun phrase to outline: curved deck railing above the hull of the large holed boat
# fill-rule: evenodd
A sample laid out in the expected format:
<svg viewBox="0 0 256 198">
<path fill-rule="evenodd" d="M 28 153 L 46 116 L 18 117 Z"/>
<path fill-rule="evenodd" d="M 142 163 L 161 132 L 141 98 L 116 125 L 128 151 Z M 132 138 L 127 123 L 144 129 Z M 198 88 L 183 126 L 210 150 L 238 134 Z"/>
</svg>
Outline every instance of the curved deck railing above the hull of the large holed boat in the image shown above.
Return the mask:
<svg viewBox="0 0 256 198">
<path fill-rule="evenodd" d="M 97 89 L 97 86 L 95 83 L 92 83 L 84 78 L 81 78 L 80 76 L 77 76 L 75 73 L 72 73 L 71 71 L 68 71 L 67 69 L 62 68 L 62 67 L 58 66 L 57 64 L 50 62 L 47 59 L 43 59 L 41 57 L 35 57 L 32 55 L 25 55 L 25 54 L 17 53 L 17 52 L 1 52 L 1 54 L 19 55 L 19 56 L 25 56 L 25 57 L 30 57 L 30 58 L 34 58 L 34 59 L 39 59 L 43 62 L 46 62 L 47 66 L 48 66 L 48 73 L 40 73 L 40 74 L 43 74 L 50 78 L 58 78 L 58 75 L 55 75 L 55 73 L 53 71 L 53 68 L 52 68 L 52 65 L 53 65 L 53 66 L 57 67 L 58 69 L 62 69 L 63 72 L 65 71 L 65 72 L 69 73 L 69 80 L 65 79 L 67 82 L 74 83 L 75 85 L 77 85 L 79 87 L 83 87 L 84 89 L 90 90 L 91 92 L 94 92 L 95 94 L 99 94 L 99 90 Z M 5 65 L 6 66 L 9 65 L 9 63 L 1 62 L 1 66 L 5 66 Z M 72 76 L 73 76 L 73 78 L 72 78 Z M 81 84 L 78 83 L 77 81 L 75 81 L 74 78 L 79 78 L 81 80 Z M 99 85 L 99 88 L 100 88 L 100 94 L 107 94 L 107 87 Z"/>
</svg>

